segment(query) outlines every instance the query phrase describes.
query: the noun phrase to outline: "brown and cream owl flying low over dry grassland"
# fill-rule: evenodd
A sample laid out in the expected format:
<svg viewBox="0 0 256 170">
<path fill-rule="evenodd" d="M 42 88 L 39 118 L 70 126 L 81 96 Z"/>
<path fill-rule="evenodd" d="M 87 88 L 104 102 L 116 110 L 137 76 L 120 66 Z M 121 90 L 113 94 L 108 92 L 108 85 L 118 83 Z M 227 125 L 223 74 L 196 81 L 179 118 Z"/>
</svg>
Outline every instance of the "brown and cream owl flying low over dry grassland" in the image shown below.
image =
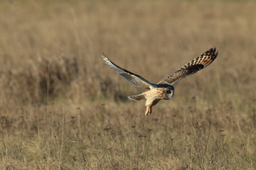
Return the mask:
<svg viewBox="0 0 256 170">
<path fill-rule="evenodd" d="M 157 84 L 152 84 L 143 77 L 119 67 L 117 64 L 111 62 L 104 54 L 102 55 L 102 58 L 105 60 L 106 64 L 114 70 L 114 72 L 117 72 L 121 77 L 127 79 L 131 84 L 148 90 L 142 94 L 128 96 L 128 98 L 133 101 L 139 101 L 146 98 L 145 115 L 150 115 L 152 113 L 152 106 L 155 106 L 162 99 L 169 100 L 174 96 L 173 85 L 176 84 L 176 82 L 207 67 L 217 56 L 218 51 L 216 51 L 216 48 L 211 48 L 199 57 L 191 60 L 191 62 L 188 62 L 188 64 L 185 64 L 181 69 L 178 69 L 176 72 L 164 77 L 164 79 L 159 81 Z"/>
</svg>

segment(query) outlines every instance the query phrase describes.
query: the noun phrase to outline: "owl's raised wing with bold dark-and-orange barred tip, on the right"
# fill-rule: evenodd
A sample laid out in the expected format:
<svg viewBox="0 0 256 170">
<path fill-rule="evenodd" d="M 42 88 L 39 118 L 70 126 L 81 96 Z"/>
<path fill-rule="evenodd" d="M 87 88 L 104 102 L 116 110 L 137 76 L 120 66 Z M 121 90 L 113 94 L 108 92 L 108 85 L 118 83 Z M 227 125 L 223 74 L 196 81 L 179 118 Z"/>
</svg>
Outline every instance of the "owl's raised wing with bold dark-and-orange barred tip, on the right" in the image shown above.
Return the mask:
<svg viewBox="0 0 256 170">
<path fill-rule="evenodd" d="M 216 48 L 211 48 L 199 57 L 196 57 L 194 60 L 191 60 L 191 62 L 188 62 L 188 64 L 185 64 L 183 67 L 181 67 L 181 69 L 178 69 L 176 72 L 164 77 L 164 79 L 159 81 L 157 84 L 168 83 L 174 85 L 176 84 L 176 82 L 183 79 L 184 77 L 187 77 L 191 74 L 195 74 L 199 70 L 207 67 L 210 63 L 212 63 L 215 60 L 217 56 L 218 51 L 216 51 Z"/>
</svg>

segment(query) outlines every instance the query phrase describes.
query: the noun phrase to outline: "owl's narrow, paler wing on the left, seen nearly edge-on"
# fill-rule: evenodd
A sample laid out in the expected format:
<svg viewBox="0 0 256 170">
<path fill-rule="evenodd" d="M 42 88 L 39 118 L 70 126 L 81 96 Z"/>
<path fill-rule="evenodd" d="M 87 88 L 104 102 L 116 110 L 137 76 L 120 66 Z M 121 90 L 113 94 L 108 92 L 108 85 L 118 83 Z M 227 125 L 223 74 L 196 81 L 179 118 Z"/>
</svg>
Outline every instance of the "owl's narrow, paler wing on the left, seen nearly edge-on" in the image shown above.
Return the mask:
<svg viewBox="0 0 256 170">
<path fill-rule="evenodd" d="M 123 69 L 122 67 L 119 67 L 117 64 L 111 62 L 104 54 L 102 55 L 102 58 L 103 60 L 105 60 L 106 64 L 114 70 L 114 72 L 117 72 L 117 74 L 124 77 L 124 79 L 127 79 L 134 86 L 139 86 L 144 89 L 156 88 L 156 84 L 151 84 L 149 81 L 140 77 L 139 75 L 129 72 L 128 70 Z"/>
</svg>

